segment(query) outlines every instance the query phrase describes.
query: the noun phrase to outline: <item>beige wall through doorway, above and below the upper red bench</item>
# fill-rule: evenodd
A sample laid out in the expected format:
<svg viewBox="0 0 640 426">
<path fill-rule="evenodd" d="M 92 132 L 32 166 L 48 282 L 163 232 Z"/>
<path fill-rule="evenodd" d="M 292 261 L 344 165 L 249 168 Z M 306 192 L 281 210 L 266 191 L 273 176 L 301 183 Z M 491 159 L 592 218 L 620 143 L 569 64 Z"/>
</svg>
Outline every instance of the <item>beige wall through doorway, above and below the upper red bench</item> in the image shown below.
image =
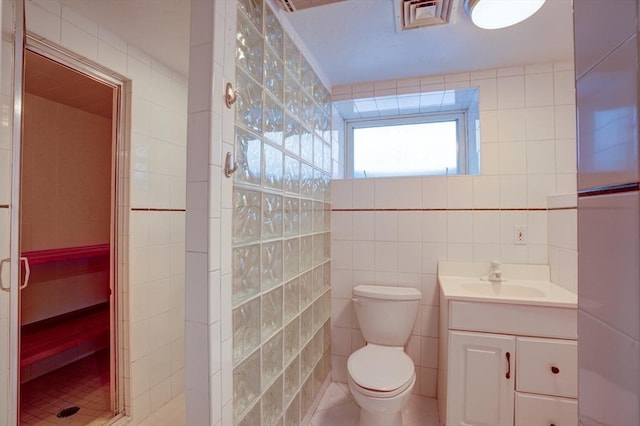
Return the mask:
<svg viewBox="0 0 640 426">
<path fill-rule="evenodd" d="M 109 243 L 110 118 L 24 97 L 21 251 Z M 109 300 L 109 259 L 34 265 L 21 293 L 29 324 Z"/>
</svg>

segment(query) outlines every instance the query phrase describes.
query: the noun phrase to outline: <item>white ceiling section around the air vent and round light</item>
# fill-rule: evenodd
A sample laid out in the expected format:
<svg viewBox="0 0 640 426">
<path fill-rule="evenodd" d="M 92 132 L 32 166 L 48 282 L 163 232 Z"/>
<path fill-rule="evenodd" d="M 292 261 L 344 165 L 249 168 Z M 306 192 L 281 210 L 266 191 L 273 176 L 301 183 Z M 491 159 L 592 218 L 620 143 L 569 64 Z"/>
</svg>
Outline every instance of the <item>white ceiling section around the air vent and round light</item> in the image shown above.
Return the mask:
<svg viewBox="0 0 640 426">
<path fill-rule="evenodd" d="M 573 59 L 571 0 L 547 0 L 530 19 L 483 30 L 459 0 L 453 23 L 396 32 L 393 1 L 348 0 L 290 21 L 332 85 Z M 517 0 L 515 0 L 517 1 Z"/>
</svg>

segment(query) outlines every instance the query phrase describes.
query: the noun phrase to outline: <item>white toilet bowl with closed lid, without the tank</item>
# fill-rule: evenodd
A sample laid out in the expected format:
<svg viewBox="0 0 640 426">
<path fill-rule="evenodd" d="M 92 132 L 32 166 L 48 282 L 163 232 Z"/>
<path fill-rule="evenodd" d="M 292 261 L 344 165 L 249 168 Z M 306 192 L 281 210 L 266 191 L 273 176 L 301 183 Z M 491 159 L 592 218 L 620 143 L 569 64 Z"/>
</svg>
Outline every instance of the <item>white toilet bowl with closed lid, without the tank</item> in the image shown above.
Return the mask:
<svg viewBox="0 0 640 426">
<path fill-rule="evenodd" d="M 402 347 L 368 344 L 347 361 L 349 390 L 360 406 L 361 426 L 402 425 L 402 409 L 416 382 Z"/>
</svg>

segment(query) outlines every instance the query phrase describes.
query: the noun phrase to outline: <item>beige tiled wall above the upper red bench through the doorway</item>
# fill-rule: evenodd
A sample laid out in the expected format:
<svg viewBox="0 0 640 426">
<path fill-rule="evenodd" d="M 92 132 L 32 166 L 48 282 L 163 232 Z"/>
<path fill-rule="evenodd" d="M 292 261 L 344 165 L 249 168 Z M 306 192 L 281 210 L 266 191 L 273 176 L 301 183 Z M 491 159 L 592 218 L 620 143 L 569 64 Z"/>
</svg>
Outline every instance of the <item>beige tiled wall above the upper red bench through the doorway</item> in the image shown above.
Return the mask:
<svg viewBox="0 0 640 426">
<path fill-rule="evenodd" d="M 111 119 L 25 94 L 21 250 L 109 242 Z"/>
</svg>

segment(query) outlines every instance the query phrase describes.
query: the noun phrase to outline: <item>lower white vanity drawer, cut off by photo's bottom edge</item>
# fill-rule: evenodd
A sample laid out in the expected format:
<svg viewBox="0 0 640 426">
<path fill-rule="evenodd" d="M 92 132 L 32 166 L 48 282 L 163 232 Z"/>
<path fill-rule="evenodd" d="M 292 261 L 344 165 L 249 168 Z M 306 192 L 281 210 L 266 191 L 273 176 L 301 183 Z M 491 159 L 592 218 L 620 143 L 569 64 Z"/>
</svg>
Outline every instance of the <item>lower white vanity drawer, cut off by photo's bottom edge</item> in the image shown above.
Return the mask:
<svg viewBox="0 0 640 426">
<path fill-rule="evenodd" d="M 575 399 L 516 393 L 515 426 L 576 426 Z"/>
</svg>

